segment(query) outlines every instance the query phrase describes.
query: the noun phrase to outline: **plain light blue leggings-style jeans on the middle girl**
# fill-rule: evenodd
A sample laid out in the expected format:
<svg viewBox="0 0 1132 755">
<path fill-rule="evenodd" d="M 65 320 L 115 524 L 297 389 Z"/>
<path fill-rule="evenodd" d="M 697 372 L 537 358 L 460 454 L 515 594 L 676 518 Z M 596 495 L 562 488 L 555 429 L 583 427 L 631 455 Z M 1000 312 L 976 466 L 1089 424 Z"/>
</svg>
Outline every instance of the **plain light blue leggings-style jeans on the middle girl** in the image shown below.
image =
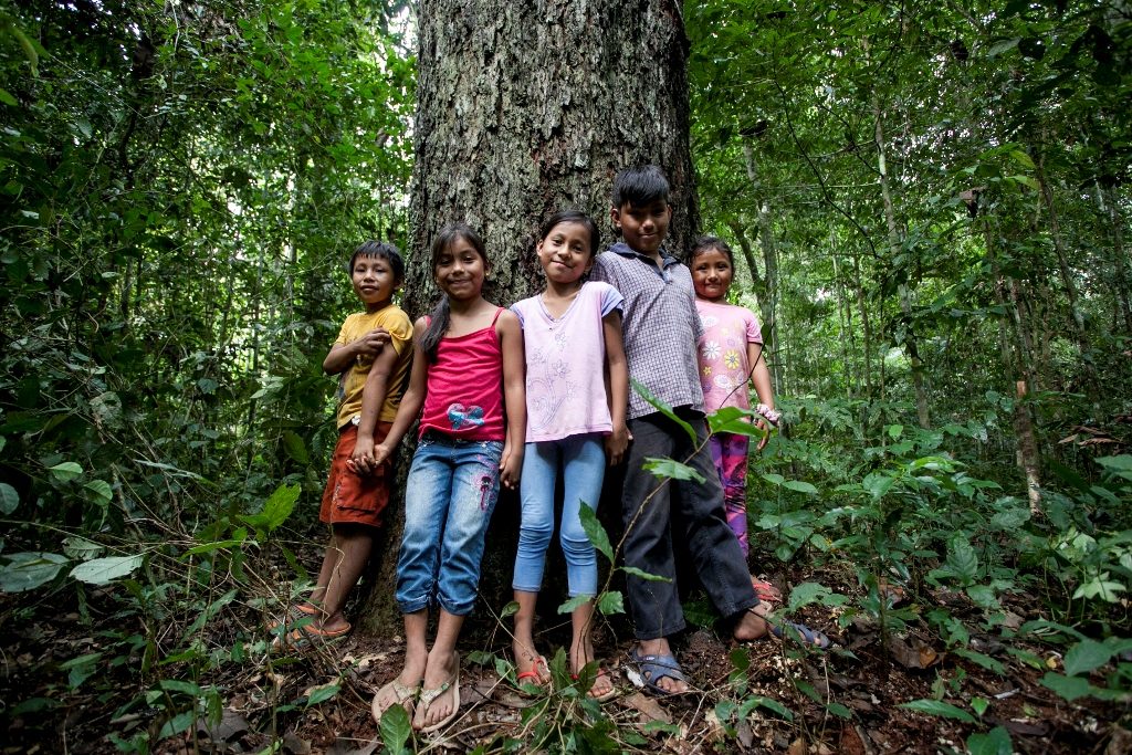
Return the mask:
<svg viewBox="0 0 1132 755">
<path fill-rule="evenodd" d="M 542 586 L 547 548 L 555 532 L 555 486 L 559 470 L 565 481 L 559 540 L 566 557 L 569 594 L 593 595 L 598 592 L 598 559 L 582 529 L 578 511 L 583 504 L 597 511 L 601 497 L 606 449 L 602 436 L 597 434 L 526 444 L 521 487 L 523 521 L 512 587 L 538 592 Z"/>
</svg>

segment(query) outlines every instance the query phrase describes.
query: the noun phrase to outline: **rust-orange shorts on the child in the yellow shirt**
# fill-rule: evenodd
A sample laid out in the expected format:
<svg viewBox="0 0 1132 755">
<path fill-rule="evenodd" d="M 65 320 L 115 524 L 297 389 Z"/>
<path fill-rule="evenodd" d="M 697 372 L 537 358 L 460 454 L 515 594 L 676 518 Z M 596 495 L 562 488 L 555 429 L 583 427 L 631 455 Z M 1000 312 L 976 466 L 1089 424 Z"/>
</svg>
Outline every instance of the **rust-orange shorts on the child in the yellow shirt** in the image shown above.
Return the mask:
<svg viewBox="0 0 1132 755">
<path fill-rule="evenodd" d="M 389 435 L 393 422 L 378 422 L 374 428 L 374 443 L 379 444 Z M 362 477 L 350 471 L 346 462 L 358 443 L 358 426 L 348 424 L 338 435 L 338 444 L 331 458 L 331 479 L 323 492 L 323 507 L 318 518 L 327 524 L 381 525 L 381 512 L 389 503 L 393 482 L 393 463 L 385 460 L 372 474 Z"/>
</svg>

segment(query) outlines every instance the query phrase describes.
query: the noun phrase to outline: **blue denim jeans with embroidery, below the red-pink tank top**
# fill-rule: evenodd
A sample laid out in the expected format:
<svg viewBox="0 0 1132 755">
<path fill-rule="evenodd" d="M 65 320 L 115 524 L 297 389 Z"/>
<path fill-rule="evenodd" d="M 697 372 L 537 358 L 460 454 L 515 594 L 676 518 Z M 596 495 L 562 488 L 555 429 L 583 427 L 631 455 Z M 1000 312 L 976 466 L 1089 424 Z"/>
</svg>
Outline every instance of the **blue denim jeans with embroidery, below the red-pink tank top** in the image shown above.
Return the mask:
<svg viewBox="0 0 1132 755">
<path fill-rule="evenodd" d="M 453 616 L 475 604 L 483 535 L 499 494 L 500 440 L 426 432 L 405 482 L 405 533 L 397 558 L 397 604 L 432 603 Z"/>
</svg>

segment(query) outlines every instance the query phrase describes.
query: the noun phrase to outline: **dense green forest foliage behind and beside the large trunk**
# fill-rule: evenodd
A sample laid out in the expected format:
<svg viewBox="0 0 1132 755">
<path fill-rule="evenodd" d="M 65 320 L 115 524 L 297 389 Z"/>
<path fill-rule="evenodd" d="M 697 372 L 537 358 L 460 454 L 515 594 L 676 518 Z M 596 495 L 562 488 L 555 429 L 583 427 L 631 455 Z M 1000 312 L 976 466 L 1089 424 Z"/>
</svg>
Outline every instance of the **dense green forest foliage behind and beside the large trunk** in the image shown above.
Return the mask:
<svg viewBox="0 0 1132 755">
<path fill-rule="evenodd" d="M 1126 721 L 1132 7 L 684 23 L 701 230 L 740 258 L 786 412 L 752 466 L 755 558 L 807 585 L 791 610 L 915 625 Z M 363 0 L 0 1 L 0 620 L 96 637 L 29 667 L 46 692 L 6 672 L 9 724 L 104 696 L 108 741 L 144 750 L 263 650 L 315 555 L 343 264 L 368 238 L 423 254 L 413 25 Z"/>
</svg>

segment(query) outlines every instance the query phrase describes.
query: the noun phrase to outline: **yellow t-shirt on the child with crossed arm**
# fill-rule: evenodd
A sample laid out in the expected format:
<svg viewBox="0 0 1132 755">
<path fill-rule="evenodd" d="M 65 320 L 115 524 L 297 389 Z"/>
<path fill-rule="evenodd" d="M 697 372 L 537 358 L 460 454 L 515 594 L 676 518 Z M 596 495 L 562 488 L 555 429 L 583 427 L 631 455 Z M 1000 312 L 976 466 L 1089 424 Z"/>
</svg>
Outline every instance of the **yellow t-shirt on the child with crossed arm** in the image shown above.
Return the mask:
<svg viewBox="0 0 1132 755">
<path fill-rule="evenodd" d="M 385 309 L 376 312 L 357 312 L 346 318 L 338 332 L 335 345 L 346 345 L 353 343 L 376 327 L 384 327 L 389 332 L 389 344 L 386 349 L 394 349 L 397 352 L 397 362 L 389 376 L 388 388 L 385 392 L 385 403 L 378 412 L 377 419 L 381 422 L 392 422 L 397 415 L 397 406 L 401 405 L 401 396 L 405 392 L 409 381 L 409 367 L 412 362 L 413 350 L 413 324 L 396 304 L 389 304 Z M 366 387 L 366 378 L 374 366 L 372 357 L 359 357 L 338 377 L 338 429 L 361 415 L 361 393 Z"/>
</svg>

